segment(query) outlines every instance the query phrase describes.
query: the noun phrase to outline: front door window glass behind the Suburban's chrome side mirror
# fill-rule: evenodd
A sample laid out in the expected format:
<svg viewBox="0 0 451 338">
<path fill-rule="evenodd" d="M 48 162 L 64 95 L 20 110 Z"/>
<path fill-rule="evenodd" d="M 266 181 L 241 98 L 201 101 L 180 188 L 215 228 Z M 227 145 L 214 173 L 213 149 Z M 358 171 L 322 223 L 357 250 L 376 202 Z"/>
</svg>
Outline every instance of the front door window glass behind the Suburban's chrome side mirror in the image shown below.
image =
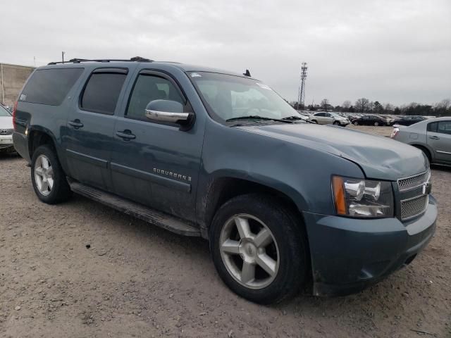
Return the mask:
<svg viewBox="0 0 451 338">
<path fill-rule="evenodd" d="M 150 101 L 171 100 L 185 106 L 185 100 L 171 81 L 154 75 L 138 76 L 127 109 L 127 117 L 147 120 L 145 109 Z"/>
</svg>

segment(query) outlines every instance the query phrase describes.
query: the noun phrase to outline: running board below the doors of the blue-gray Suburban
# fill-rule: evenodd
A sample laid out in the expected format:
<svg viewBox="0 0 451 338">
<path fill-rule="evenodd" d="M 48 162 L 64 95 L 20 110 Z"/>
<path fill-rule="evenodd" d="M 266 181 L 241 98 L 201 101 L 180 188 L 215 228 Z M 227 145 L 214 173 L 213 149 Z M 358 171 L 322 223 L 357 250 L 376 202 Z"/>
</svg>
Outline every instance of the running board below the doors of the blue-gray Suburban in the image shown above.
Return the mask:
<svg viewBox="0 0 451 338">
<path fill-rule="evenodd" d="M 127 215 L 132 215 L 135 218 L 144 220 L 147 223 L 163 227 L 163 229 L 175 232 L 176 234 L 182 234 L 183 236 L 200 237 L 200 230 L 196 227 L 185 223 L 179 218 L 175 218 L 161 211 L 156 211 L 142 204 L 123 199 L 122 197 L 104 192 L 100 189 L 89 187 L 79 182 L 69 181 L 70 189 L 88 199 L 115 208 L 118 211 L 122 211 Z"/>
</svg>

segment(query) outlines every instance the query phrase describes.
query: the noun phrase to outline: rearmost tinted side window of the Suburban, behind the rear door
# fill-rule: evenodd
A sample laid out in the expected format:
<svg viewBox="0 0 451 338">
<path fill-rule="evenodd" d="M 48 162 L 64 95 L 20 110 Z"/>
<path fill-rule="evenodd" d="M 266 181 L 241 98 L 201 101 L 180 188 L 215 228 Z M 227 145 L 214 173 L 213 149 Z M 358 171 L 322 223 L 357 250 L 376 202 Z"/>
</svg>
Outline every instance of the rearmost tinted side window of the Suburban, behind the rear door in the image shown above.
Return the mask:
<svg viewBox="0 0 451 338">
<path fill-rule="evenodd" d="M 83 73 L 83 68 L 38 69 L 28 80 L 19 101 L 59 106 Z"/>
</svg>

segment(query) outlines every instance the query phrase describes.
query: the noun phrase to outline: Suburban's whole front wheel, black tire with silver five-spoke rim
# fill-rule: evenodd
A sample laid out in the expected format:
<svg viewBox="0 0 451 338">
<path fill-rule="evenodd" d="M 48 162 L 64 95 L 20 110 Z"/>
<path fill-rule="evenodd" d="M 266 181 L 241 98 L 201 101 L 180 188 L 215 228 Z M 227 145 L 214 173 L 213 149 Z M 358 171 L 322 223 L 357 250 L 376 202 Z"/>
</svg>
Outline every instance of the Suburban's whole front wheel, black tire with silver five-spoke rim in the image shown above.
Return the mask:
<svg viewBox="0 0 451 338">
<path fill-rule="evenodd" d="M 282 204 L 258 194 L 237 196 L 216 213 L 210 247 L 223 282 L 256 303 L 296 294 L 308 271 L 300 220 Z"/>
</svg>

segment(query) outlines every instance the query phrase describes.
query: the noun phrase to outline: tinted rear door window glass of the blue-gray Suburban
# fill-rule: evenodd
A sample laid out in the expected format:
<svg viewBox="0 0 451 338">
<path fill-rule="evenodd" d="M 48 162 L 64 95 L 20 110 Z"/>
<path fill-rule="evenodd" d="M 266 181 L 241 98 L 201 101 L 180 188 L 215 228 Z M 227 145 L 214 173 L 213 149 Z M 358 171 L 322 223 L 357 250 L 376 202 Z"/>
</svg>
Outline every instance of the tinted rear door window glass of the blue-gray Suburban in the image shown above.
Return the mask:
<svg viewBox="0 0 451 338">
<path fill-rule="evenodd" d="M 126 76 L 123 73 L 92 73 L 83 92 L 81 108 L 113 115 Z"/>
</svg>

